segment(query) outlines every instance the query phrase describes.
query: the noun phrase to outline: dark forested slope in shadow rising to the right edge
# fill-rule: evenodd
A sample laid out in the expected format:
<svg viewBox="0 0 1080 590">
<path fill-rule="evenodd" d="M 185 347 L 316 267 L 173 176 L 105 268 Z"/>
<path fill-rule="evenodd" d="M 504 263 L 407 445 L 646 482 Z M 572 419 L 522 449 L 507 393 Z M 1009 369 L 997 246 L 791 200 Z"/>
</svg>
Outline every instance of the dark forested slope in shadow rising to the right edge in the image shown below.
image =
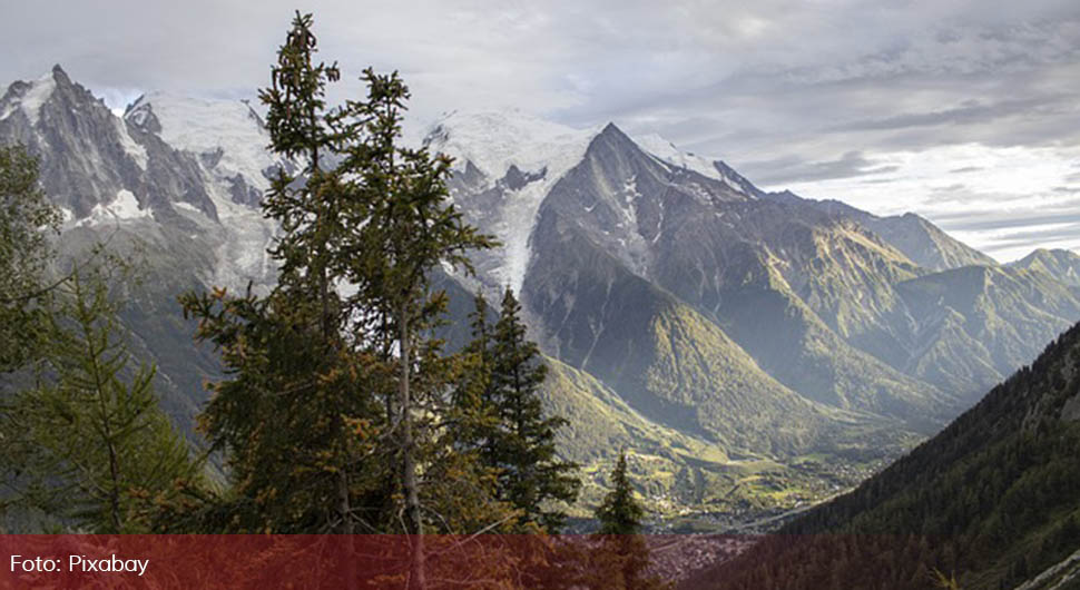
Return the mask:
<svg viewBox="0 0 1080 590">
<path fill-rule="evenodd" d="M 936 570 L 965 589 L 1022 584 L 1080 548 L 1080 422 L 1064 410 L 1077 366 L 1080 325 L 941 434 L 700 580 L 914 589 Z"/>
</svg>

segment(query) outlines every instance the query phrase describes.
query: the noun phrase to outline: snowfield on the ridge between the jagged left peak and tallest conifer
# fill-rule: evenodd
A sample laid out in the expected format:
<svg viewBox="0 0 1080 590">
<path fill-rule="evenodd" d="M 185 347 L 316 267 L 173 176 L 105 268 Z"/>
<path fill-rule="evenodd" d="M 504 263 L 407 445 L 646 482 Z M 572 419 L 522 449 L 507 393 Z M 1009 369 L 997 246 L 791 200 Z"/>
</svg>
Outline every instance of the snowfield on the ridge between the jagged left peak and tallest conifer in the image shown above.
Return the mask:
<svg viewBox="0 0 1080 590">
<path fill-rule="evenodd" d="M 276 163 L 266 149 L 269 134 L 244 102 L 149 92 L 132 105 L 127 118 L 140 125 L 148 112 L 161 125 L 161 139 L 174 148 L 196 155 L 222 150 L 213 169 L 215 176 L 229 178 L 239 174 L 249 186 L 269 188 L 263 176 L 263 170 Z"/>
</svg>

